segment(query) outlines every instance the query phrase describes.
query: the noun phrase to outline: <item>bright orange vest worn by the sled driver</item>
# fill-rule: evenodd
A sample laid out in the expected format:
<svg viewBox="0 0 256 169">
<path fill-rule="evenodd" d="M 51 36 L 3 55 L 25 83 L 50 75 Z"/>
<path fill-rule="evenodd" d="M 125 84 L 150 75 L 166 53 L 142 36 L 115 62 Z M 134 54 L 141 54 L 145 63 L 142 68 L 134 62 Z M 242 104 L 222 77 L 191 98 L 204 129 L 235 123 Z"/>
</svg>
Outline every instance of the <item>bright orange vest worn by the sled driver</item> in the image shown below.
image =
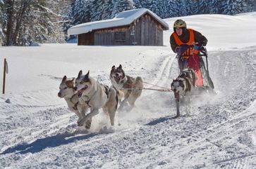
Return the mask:
<svg viewBox="0 0 256 169">
<path fill-rule="evenodd" d="M 193 54 L 197 54 L 195 53 L 195 51 L 193 51 L 193 47 L 192 45 L 195 43 L 195 35 L 194 35 L 194 31 L 193 29 L 187 29 L 188 32 L 189 32 L 189 40 L 187 43 L 184 43 L 183 41 L 181 41 L 181 39 L 178 38 L 178 34 L 176 32 L 173 32 L 173 38 L 176 42 L 176 44 L 178 46 L 181 46 L 181 45 L 188 45 L 188 46 L 191 46 L 190 48 L 188 48 L 187 50 L 185 50 L 185 52 L 181 53 L 181 55 L 183 56 L 183 58 L 185 60 L 187 60 L 190 55 L 193 55 Z"/>
</svg>

